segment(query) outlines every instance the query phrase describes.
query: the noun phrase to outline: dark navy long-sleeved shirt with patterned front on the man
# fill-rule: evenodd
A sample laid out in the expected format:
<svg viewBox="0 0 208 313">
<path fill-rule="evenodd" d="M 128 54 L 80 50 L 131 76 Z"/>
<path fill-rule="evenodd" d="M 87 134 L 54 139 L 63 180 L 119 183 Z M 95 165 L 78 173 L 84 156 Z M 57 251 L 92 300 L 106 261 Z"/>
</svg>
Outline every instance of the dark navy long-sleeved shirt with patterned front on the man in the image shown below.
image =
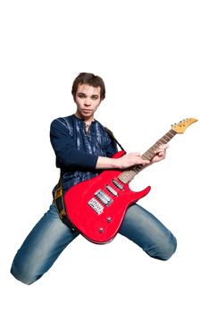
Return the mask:
<svg viewBox="0 0 208 313">
<path fill-rule="evenodd" d="M 112 157 L 117 146 L 98 121 L 91 123 L 88 132 L 85 123 L 75 114 L 60 117 L 51 123 L 50 140 L 61 169 L 63 193 L 71 186 L 95 177 L 98 157 Z"/>
</svg>

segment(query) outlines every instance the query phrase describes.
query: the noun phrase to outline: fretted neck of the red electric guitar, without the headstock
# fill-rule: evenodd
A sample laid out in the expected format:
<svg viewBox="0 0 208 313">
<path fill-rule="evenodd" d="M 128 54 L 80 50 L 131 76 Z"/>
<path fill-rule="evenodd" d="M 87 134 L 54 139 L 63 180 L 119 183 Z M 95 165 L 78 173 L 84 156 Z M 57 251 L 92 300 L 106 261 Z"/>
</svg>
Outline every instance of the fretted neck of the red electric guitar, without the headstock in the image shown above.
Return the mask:
<svg viewBox="0 0 208 313">
<path fill-rule="evenodd" d="M 177 131 L 171 129 L 171 131 L 168 131 L 164 136 L 162 136 L 160 140 L 157 140 L 154 145 L 149 148 L 141 157 L 144 160 L 150 161 L 155 156 L 155 150 L 161 145 L 168 143 L 176 134 Z M 131 182 L 133 178 L 137 175 L 137 173 L 139 173 L 143 168 L 143 165 L 134 165 L 129 169 L 123 171 L 118 178 L 123 183 Z"/>
</svg>

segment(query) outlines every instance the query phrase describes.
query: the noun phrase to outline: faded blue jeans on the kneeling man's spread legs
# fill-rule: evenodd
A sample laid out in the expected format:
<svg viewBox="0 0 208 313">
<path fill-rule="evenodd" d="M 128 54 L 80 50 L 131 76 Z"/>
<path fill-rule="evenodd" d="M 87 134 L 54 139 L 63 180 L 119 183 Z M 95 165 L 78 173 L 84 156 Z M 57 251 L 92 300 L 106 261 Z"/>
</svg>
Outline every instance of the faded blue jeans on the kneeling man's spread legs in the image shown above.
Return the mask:
<svg viewBox="0 0 208 313">
<path fill-rule="evenodd" d="M 167 260 L 176 250 L 177 241 L 172 233 L 137 204 L 127 210 L 119 233 L 153 258 Z M 12 262 L 12 275 L 22 283 L 36 282 L 78 235 L 62 224 L 52 204 L 17 251 Z"/>
</svg>

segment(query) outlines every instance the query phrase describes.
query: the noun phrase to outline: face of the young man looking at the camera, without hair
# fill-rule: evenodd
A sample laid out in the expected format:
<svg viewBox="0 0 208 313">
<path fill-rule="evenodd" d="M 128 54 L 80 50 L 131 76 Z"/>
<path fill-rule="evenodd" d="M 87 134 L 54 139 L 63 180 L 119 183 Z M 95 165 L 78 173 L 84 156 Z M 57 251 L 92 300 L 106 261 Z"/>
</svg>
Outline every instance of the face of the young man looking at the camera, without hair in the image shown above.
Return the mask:
<svg viewBox="0 0 208 313">
<path fill-rule="evenodd" d="M 101 103 L 100 87 L 79 84 L 75 95 L 75 103 L 77 105 L 77 116 L 84 120 L 92 120 L 97 107 Z"/>
</svg>

